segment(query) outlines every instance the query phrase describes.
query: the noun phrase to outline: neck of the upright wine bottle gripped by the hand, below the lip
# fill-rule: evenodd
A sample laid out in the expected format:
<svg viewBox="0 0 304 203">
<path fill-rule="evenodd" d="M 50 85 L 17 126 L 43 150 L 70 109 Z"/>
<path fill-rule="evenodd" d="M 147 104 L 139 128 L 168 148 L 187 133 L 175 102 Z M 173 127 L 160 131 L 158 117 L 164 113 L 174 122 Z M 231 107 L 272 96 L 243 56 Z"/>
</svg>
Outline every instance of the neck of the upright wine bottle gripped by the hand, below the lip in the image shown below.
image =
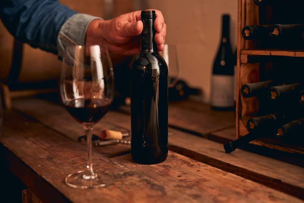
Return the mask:
<svg viewBox="0 0 304 203">
<path fill-rule="evenodd" d="M 154 40 L 154 20 L 155 19 L 142 19 L 143 31 L 141 33 L 141 52 L 157 52 L 157 47 Z"/>
</svg>

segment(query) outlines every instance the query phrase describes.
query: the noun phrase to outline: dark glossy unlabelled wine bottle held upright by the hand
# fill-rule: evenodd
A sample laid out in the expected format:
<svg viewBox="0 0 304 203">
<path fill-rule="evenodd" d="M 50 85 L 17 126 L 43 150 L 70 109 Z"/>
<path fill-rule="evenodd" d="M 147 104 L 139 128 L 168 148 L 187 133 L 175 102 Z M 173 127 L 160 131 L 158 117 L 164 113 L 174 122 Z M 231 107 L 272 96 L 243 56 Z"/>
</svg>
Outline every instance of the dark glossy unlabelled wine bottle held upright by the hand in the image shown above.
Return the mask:
<svg viewBox="0 0 304 203">
<path fill-rule="evenodd" d="M 168 156 L 168 67 L 156 50 L 154 19 L 143 23 L 142 50 L 130 72 L 131 154 L 137 163 L 154 164 Z"/>
</svg>

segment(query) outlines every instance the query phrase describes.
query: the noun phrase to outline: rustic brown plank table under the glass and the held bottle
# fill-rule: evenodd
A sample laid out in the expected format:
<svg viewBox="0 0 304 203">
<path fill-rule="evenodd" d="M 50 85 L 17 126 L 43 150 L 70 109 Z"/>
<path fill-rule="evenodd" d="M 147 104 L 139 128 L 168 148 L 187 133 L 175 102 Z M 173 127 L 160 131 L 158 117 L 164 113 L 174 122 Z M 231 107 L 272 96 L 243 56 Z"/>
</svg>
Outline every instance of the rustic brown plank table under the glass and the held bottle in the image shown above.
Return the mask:
<svg viewBox="0 0 304 203">
<path fill-rule="evenodd" d="M 221 142 L 235 135 L 233 112 L 214 112 L 197 102 L 171 103 L 165 162 L 134 163 L 129 145 L 93 147 L 94 168 L 107 170 L 116 179 L 104 188 L 81 190 L 63 180 L 85 169 L 86 145 L 77 141 L 84 134 L 82 126 L 64 107 L 50 101 L 26 98 L 13 100 L 12 105 L 13 110 L 4 112 L 2 168 L 27 188 L 24 202 L 26 198 L 42 202 L 304 200 L 304 168 L 299 162 L 303 157 L 291 157 L 287 163 L 282 161 L 287 155 L 273 159 L 242 149 L 224 153 Z M 130 129 L 128 108 L 122 109 L 124 113 L 109 111 L 94 132 Z"/>
</svg>

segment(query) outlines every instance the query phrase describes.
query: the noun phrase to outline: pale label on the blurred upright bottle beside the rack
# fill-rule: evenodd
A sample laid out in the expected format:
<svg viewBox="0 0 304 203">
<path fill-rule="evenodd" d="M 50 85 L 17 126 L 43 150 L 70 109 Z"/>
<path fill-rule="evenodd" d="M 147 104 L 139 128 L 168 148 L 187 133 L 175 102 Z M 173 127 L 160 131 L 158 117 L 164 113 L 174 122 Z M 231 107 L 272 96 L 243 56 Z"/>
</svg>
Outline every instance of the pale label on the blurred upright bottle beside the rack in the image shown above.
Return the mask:
<svg viewBox="0 0 304 203">
<path fill-rule="evenodd" d="M 210 105 L 213 107 L 232 107 L 234 79 L 233 75 L 212 75 Z"/>
</svg>

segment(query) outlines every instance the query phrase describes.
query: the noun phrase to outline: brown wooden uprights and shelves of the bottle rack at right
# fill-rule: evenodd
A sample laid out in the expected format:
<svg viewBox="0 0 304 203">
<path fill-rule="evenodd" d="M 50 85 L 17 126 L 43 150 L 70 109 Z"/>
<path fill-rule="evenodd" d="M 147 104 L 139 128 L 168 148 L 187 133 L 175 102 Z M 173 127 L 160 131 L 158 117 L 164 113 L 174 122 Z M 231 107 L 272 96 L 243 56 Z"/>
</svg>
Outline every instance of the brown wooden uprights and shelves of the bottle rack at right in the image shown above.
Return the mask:
<svg viewBox="0 0 304 203">
<path fill-rule="evenodd" d="M 275 58 L 272 56 L 286 57 L 280 60 L 288 61 L 286 63 L 297 64 L 299 57 L 304 57 L 303 50 L 287 50 L 287 49 L 271 49 L 271 48 L 257 48 L 256 41 L 244 40 L 241 35 L 241 30 L 246 25 L 259 25 L 259 23 L 268 22 L 271 19 L 277 19 L 279 12 L 269 12 L 270 10 L 263 10 L 254 4 L 253 0 L 238 0 L 238 38 L 237 38 L 237 108 L 236 108 L 236 135 L 237 138 L 248 133 L 247 121 L 252 115 L 257 115 L 261 110 L 259 108 L 260 100 L 257 97 L 244 98 L 240 95 L 240 88 L 246 83 L 260 82 L 266 70 L 275 68 Z M 293 12 L 288 8 L 285 15 Z M 289 13 L 288 13 L 289 12 Z M 260 15 L 261 14 L 261 15 Z M 282 17 L 282 16 L 281 16 Z M 290 17 L 291 23 L 292 15 Z M 282 20 L 282 18 L 280 18 Z M 296 19 L 295 19 L 296 20 Z M 269 22 L 268 22 L 269 23 Z M 266 23 L 267 24 L 267 23 Z M 273 23 L 269 23 L 273 24 Z M 282 23 L 284 24 L 284 23 Z M 258 57 L 256 57 L 258 56 Z M 261 57 L 259 57 L 261 56 Z M 265 56 L 265 57 L 264 57 Z M 295 58 L 287 58 L 295 57 Z M 297 58 L 296 58 L 297 57 Z M 275 64 L 275 65 L 274 65 Z M 289 71 L 292 69 L 289 68 Z M 291 76 L 291 75 L 290 75 Z M 259 114 L 263 114 L 259 112 Z M 267 136 L 265 136 L 267 137 Z M 286 142 L 286 140 L 273 138 L 263 138 L 257 141 L 250 142 L 255 145 L 262 145 L 271 149 L 277 149 L 285 152 L 296 153 L 304 155 L 304 146 L 298 143 Z"/>
</svg>

